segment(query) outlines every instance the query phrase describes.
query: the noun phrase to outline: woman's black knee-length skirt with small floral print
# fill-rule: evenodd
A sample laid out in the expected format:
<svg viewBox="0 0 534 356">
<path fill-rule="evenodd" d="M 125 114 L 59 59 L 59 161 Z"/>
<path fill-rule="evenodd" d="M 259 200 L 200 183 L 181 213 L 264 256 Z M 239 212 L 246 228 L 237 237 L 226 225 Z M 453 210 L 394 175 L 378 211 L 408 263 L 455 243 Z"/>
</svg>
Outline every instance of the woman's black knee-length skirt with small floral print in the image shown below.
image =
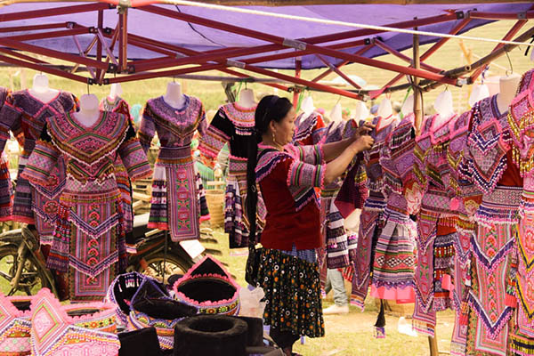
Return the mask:
<svg viewBox="0 0 534 356">
<path fill-rule="evenodd" d="M 313 250 L 264 248 L 258 271 L 265 292 L 265 325 L 294 335 L 325 335 L 319 266 Z"/>
</svg>

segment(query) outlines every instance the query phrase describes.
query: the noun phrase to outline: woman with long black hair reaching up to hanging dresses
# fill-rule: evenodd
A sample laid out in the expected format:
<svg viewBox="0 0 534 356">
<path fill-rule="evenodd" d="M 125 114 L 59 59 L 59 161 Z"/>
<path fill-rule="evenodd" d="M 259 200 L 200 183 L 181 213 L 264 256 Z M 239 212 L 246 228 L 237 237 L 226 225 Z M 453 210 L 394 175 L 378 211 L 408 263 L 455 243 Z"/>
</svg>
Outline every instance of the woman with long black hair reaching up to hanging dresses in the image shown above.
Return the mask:
<svg viewBox="0 0 534 356">
<path fill-rule="evenodd" d="M 247 162 L 247 214 L 255 216 L 256 183 L 267 207 L 257 276 L 265 292 L 263 319 L 287 355 L 293 354 L 300 336 L 324 336 L 315 255 L 315 248 L 322 244 L 320 208 L 313 187 L 333 182 L 355 155 L 373 145 L 373 139 L 365 135 L 372 126 L 366 125 L 340 142 L 295 147 L 289 144 L 294 122 L 290 101 L 276 95 L 264 97 L 255 110 L 258 144 L 249 148 Z M 255 223 L 250 231 L 251 238 L 255 237 Z"/>
</svg>

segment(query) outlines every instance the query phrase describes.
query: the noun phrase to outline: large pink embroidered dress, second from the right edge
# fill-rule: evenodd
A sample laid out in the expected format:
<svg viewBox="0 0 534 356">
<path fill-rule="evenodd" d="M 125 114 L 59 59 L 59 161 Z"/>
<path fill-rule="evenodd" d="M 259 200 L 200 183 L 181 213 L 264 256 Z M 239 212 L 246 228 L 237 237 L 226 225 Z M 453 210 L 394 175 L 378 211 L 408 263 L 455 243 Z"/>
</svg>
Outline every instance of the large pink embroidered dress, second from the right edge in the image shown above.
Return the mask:
<svg viewBox="0 0 534 356">
<path fill-rule="evenodd" d="M 476 234 L 471 239 L 472 268 L 478 288 L 471 288 L 468 303 L 478 318 L 474 350 L 506 355 L 508 321 L 513 306 L 506 303 L 515 274 L 515 236 L 518 231 L 522 178 L 512 161 L 507 113 L 498 110 L 497 95 L 477 102 L 472 109 L 468 150 L 460 172 L 482 192 L 474 214 Z"/>
</svg>

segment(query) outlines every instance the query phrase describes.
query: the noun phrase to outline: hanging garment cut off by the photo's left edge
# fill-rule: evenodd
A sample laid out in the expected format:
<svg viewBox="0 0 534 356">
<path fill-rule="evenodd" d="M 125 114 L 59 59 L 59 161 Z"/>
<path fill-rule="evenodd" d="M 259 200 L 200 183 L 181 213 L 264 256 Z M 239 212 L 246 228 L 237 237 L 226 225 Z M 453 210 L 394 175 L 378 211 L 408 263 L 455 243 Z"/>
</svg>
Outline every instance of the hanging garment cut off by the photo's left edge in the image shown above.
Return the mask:
<svg viewBox="0 0 534 356">
<path fill-rule="evenodd" d="M 0 87 L 0 112 L 4 102 L 11 100 L 11 92 Z M 4 126 L 4 120 L 0 120 L 0 222 L 12 220 L 13 213 L 13 191 L 11 176 L 9 174 L 9 165 L 7 157 L 4 154 L 4 141 L 9 140 L 10 128 Z"/>
</svg>

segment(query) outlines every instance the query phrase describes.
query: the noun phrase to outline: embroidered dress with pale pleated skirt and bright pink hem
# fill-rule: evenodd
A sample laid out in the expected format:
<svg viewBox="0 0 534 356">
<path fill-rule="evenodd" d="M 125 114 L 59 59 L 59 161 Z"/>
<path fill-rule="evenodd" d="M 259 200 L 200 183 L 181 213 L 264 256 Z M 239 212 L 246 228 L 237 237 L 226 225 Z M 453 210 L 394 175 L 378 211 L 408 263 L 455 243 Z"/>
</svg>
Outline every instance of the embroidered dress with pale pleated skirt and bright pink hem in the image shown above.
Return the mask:
<svg viewBox="0 0 534 356">
<path fill-rule="evenodd" d="M 386 139 L 380 156 L 384 173 L 384 229 L 375 249 L 371 295 L 397 303 L 413 303 L 416 223 L 409 217 L 404 186 L 413 166 L 416 134 L 413 115 L 405 117 Z"/>
</svg>

